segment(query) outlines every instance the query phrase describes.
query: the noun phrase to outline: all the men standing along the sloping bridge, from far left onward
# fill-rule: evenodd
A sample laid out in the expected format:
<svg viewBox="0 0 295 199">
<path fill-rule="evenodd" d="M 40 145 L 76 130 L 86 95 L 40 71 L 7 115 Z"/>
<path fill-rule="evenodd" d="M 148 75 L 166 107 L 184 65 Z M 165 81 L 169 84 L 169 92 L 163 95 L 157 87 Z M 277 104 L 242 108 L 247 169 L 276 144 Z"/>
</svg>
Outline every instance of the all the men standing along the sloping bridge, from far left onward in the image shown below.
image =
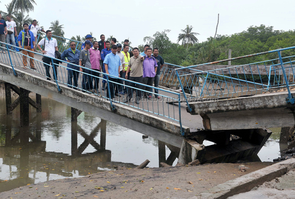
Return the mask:
<svg viewBox="0 0 295 199">
<path fill-rule="evenodd" d="M 1 16 L 0 16 L 1 17 Z M 30 68 L 34 67 L 34 53 L 36 50 L 37 31 L 42 28 L 37 26 L 36 20 L 33 20 L 33 24 L 23 24 L 23 30 L 17 34 L 15 23 L 11 23 L 10 16 L 6 16 L 6 22 L 0 20 L 0 40 L 2 41 L 2 34 L 4 34 L 7 42 L 7 38 L 12 40 L 14 38 L 10 36 L 13 30 L 14 35 L 18 35 L 18 45 L 23 49 L 23 64 L 24 69 L 27 69 L 27 54 L 30 58 Z M 111 41 L 105 41 L 105 35 L 100 35 L 100 41 L 93 41 L 93 37 L 86 35 L 86 41 L 82 44 L 82 50 L 76 48 L 74 41 L 70 42 L 70 48 L 62 52 L 60 59 L 67 61 L 67 84 L 68 87 L 78 89 L 78 79 L 80 72 L 83 72 L 82 89 L 83 92 L 99 92 L 99 77 L 100 72 L 108 75 L 103 75 L 102 90 L 106 90 L 107 97 L 114 99 L 115 96 L 127 94 L 125 102 L 129 102 L 133 98 L 133 93 L 136 93 L 136 103 L 142 97 L 148 99 L 152 98 L 150 92 L 151 87 L 154 84 L 155 87 L 159 86 L 160 69 L 164 65 L 164 60 L 159 56 L 157 48 L 151 49 L 148 45 L 145 45 L 144 52 L 140 53 L 138 48 L 129 49 L 129 40 L 124 40 L 124 45 L 117 43 L 116 38 L 112 38 Z M 43 46 L 43 48 L 41 48 Z M 5 46 L 2 46 L 5 47 Z M 46 37 L 41 39 L 37 44 L 37 48 L 42 51 L 46 56 L 43 57 L 44 67 L 46 69 L 47 80 L 51 80 L 50 65 L 58 64 L 56 59 L 57 53 L 59 53 L 57 40 L 52 37 L 51 30 L 46 31 Z M 5 53 L 5 51 L 3 51 Z M 79 66 L 83 66 L 79 67 Z M 57 65 L 56 65 L 57 66 Z M 57 67 L 54 67 L 53 79 L 58 77 Z M 91 69 L 91 70 L 89 70 Z M 94 71 L 92 71 L 94 70 Z M 131 82 L 124 81 L 130 80 Z M 109 81 L 109 84 L 107 84 Z M 139 84 L 137 84 L 139 83 Z M 148 86 L 143 86 L 148 85 Z M 137 89 L 132 89 L 135 87 Z M 141 90 L 145 90 L 143 93 Z M 109 91 L 110 90 L 110 91 Z M 154 90 L 155 97 L 159 97 L 158 89 Z"/>
</svg>

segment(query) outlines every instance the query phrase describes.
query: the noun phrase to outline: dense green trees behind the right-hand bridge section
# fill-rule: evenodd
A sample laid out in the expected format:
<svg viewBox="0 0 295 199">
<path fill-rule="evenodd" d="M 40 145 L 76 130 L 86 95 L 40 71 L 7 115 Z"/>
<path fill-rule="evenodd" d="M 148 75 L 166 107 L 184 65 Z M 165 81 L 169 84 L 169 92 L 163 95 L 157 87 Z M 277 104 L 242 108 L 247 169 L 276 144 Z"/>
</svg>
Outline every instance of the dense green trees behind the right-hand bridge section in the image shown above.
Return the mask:
<svg viewBox="0 0 295 199">
<path fill-rule="evenodd" d="M 227 59 L 229 49 L 232 49 L 232 57 L 240 57 L 295 46 L 295 30 L 274 30 L 272 26 L 266 27 L 265 25 L 251 26 L 245 31 L 232 35 L 217 35 L 215 39 L 210 37 L 205 42 L 189 46 L 187 50 L 183 45 L 170 41 L 167 36 L 169 31 L 157 31 L 153 37 L 145 37 L 144 42 L 152 48 L 158 47 L 165 62 L 181 66 Z M 282 56 L 285 57 L 292 53 L 293 50 L 284 51 Z M 271 58 L 277 58 L 277 55 L 267 54 L 238 59 L 232 61 L 232 64 L 253 63 Z M 227 64 L 227 62 L 221 64 Z"/>
</svg>

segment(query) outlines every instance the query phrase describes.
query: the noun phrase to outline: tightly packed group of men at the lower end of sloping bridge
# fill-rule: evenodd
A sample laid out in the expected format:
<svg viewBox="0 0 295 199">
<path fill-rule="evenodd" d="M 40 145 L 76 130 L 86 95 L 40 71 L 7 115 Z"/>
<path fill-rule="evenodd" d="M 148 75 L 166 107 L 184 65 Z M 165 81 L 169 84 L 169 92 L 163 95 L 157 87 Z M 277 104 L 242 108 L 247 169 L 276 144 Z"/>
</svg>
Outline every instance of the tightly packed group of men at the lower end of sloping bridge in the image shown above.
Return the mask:
<svg viewBox="0 0 295 199">
<path fill-rule="evenodd" d="M 115 96 L 127 94 L 126 100 L 129 102 L 136 93 L 135 102 L 139 103 L 142 97 L 151 99 L 150 92 L 152 89 L 148 86 L 154 84 L 159 86 L 160 69 L 164 65 L 164 60 L 159 56 L 158 48 L 153 50 L 149 45 L 145 45 L 145 50 L 140 53 L 138 48 L 130 51 L 129 40 L 124 40 L 124 45 L 117 43 L 116 38 L 111 41 L 105 41 L 105 35 L 100 35 L 100 41 L 93 41 L 93 37 L 86 35 L 86 41 L 82 44 L 81 52 L 76 49 L 76 43 L 71 42 L 70 48 L 61 54 L 61 59 L 68 63 L 68 86 L 78 89 L 79 71 L 83 72 L 82 89 L 83 92 L 99 92 L 99 72 L 108 74 L 103 75 L 102 90 L 106 90 L 107 98 L 115 98 Z M 80 54 L 80 56 L 79 56 Z M 79 64 L 78 64 L 79 63 Z M 73 65 L 76 64 L 76 65 Z M 83 66 L 84 68 L 78 67 Z M 94 71 L 88 70 L 92 69 Z M 132 82 L 121 80 L 126 79 Z M 109 81 L 109 88 L 107 87 Z M 140 83 L 140 84 L 137 84 Z M 125 85 L 125 86 L 124 86 Z M 135 87 L 137 89 L 131 89 Z M 110 92 L 109 90 L 110 89 Z M 145 90 L 143 93 L 142 90 Z M 159 98 L 158 89 L 154 90 L 155 97 Z"/>
</svg>

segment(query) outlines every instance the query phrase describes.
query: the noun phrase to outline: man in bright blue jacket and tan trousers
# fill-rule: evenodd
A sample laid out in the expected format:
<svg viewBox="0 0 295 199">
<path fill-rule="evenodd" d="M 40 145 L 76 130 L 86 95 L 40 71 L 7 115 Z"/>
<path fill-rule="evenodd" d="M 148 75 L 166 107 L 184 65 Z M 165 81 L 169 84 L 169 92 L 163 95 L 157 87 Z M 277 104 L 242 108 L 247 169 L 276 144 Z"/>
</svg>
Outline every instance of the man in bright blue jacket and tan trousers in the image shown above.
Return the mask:
<svg viewBox="0 0 295 199">
<path fill-rule="evenodd" d="M 18 35 L 18 44 L 22 48 L 28 50 L 28 51 L 23 51 L 23 64 L 24 64 L 24 69 L 27 69 L 27 54 L 29 54 L 29 57 L 34 58 L 34 54 L 30 51 L 33 51 L 35 46 L 35 37 L 33 32 L 29 30 L 29 24 L 24 23 L 23 24 L 24 29 L 20 31 Z M 31 69 L 36 69 L 34 67 L 34 59 L 29 58 L 29 65 Z"/>
</svg>

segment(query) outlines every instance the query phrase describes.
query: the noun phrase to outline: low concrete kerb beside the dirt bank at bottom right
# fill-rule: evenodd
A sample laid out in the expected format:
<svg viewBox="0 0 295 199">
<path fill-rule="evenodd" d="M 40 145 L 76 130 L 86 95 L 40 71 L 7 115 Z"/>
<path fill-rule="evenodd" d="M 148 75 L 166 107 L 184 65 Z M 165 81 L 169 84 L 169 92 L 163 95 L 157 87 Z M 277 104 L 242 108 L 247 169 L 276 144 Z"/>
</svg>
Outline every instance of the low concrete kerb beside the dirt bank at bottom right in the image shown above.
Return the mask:
<svg viewBox="0 0 295 199">
<path fill-rule="evenodd" d="M 257 185 L 271 181 L 295 168 L 295 158 L 251 172 L 234 180 L 219 184 L 206 193 L 198 194 L 191 199 L 227 199 L 236 194 L 248 192 Z"/>
</svg>

